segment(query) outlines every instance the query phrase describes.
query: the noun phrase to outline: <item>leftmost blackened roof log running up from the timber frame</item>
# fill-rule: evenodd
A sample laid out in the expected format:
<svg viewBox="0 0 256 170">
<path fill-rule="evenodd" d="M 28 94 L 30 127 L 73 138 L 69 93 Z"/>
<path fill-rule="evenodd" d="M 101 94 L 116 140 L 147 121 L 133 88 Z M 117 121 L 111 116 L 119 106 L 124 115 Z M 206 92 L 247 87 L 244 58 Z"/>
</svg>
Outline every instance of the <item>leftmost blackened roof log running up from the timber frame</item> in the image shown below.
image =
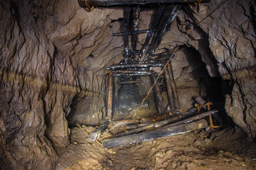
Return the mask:
<svg viewBox="0 0 256 170">
<path fill-rule="evenodd" d="M 124 7 L 124 63 L 127 64 L 129 57 L 129 18 L 131 15 L 131 7 Z"/>
</svg>

